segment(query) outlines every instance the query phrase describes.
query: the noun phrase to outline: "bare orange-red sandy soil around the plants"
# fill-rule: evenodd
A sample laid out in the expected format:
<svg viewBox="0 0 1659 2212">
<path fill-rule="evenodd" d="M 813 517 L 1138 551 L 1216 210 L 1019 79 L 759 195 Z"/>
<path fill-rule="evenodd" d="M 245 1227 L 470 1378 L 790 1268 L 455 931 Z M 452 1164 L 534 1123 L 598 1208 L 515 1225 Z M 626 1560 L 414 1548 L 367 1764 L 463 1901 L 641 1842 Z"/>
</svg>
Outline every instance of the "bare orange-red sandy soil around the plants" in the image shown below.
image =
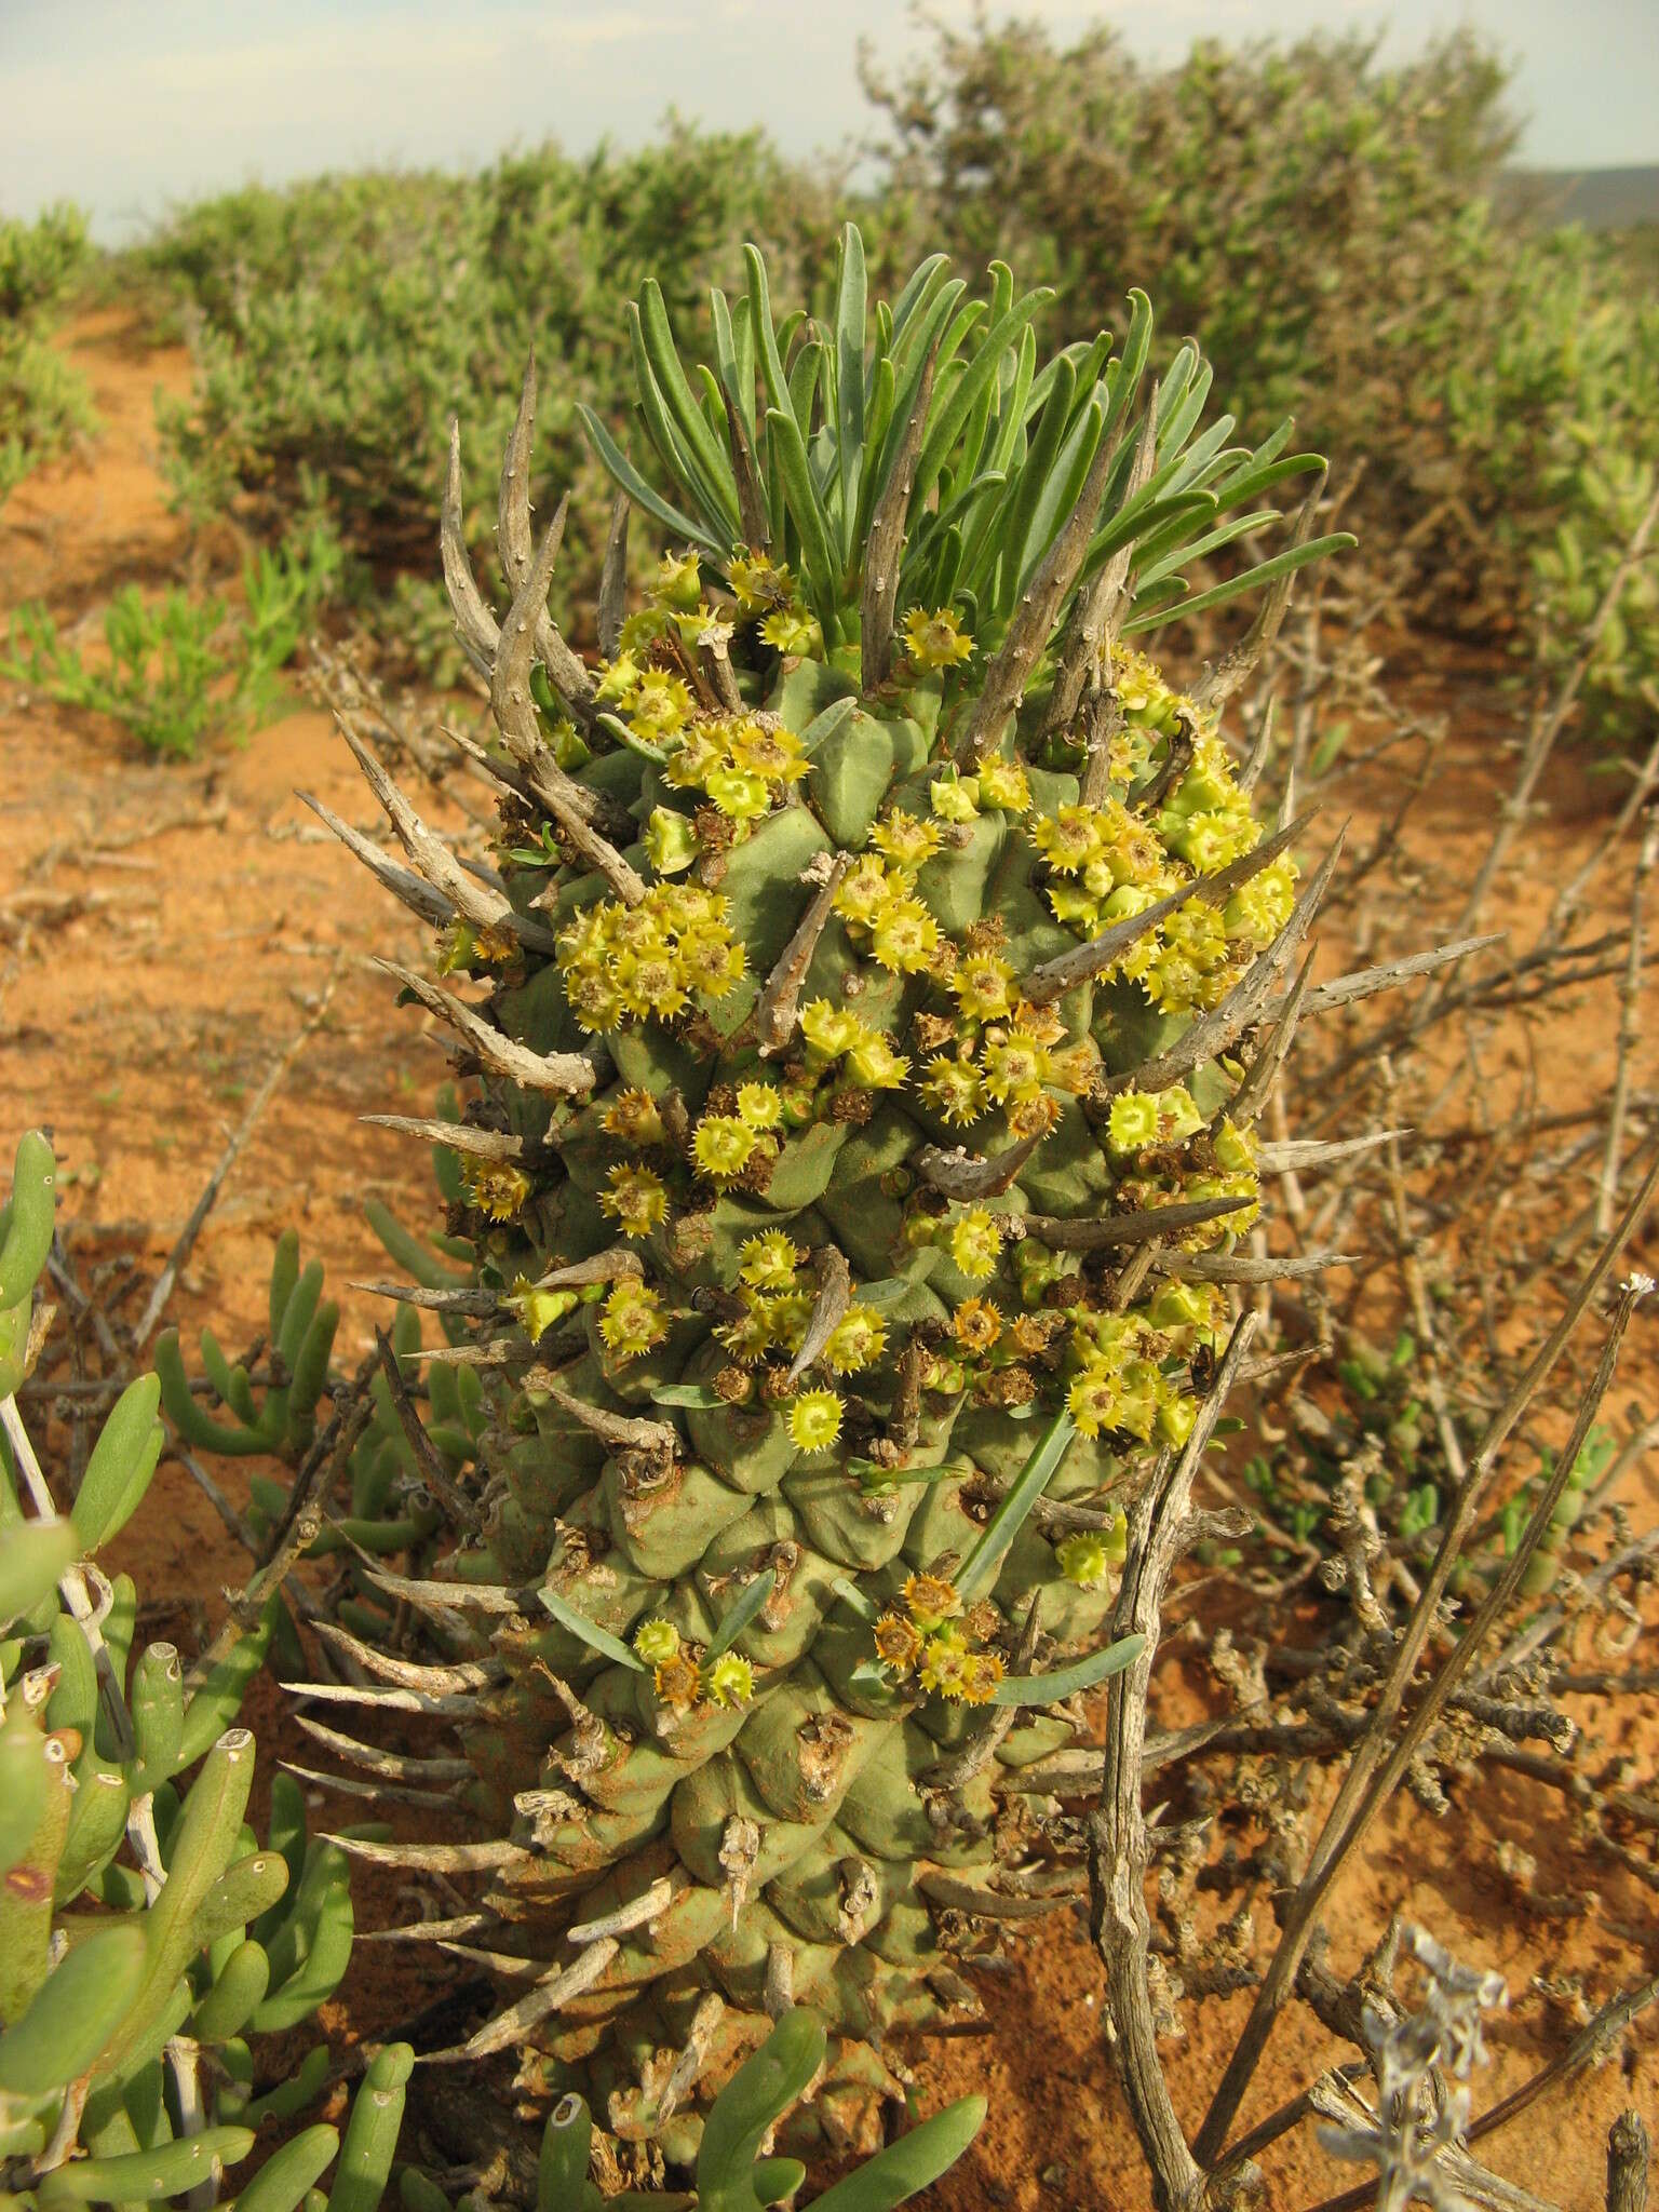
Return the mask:
<svg viewBox="0 0 1659 2212">
<path fill-rule="evenodd" d="M 164 582 L 186 566 L 186 533 L 166 509 L 155 467 L 153 392 L 184 389 L 188 361 L 181 352 L 144 352 L 115 314 L 84 319 L 69 349 L 93 383 L 102 438 L 86 460 L 44 471 L 13 495 L 0 531 L 0 613 L 44 597 L 60 624 L 91 617 L 95 635 L 113 588 L 131 577 Z M 1455 902 L 1467 880 L 1462 863 L 1489 830 L 1504 781 L 1504 763 L 1493 757 L 1502 721 L 1491 712 L 1491 670 L 1471 675 L 1442 655 L 1411 681 L 1453 712 L 1453 772 L 1425 812 L 1438 845 L 1425 878 L 1427 911 Z M 228 1345 L 246 1343 L 261 1327 L 272 1241 L 294 1223 L 305 1256 L 325 1261 L 330 1294 L 345 1307 L 336 1363 L 354 1365 L 369 1345 L 376 1301 L 349 1285 L 387 1272 L 363 1223 L 363 1199 L 380 1194 L 407 1221 L 431 1221 L 425 1161 L 409 1157 L 418 1148 L 356 1117 L 429 1110 L 442 1057 L 420 1018 L 394 1009 L 392 984 L 367 964 L 374 953 L 418 964 L 418 927 L 294 796 L 296 785 L 312 790 L 347 821 L 369 825 L 369 794 L 330 719 L 292 712 L 241 750 L 223 745 L 190 765 L 155 765 L 137 759 L 119 730 L 0 684 L 0 761 L 4 1152 L 11 1133 L 49 1124 L 64 1164 L 66 1245 L 82 1279 L 97 1283 L 100 1267 L 119 1254 L 135 1254 L 155 1274 L 246 1099 L 336 978 L 325 1020 L 208 1219 L 170 1318 L 186 1345 L 206 1318 Z M 1557 818 L 1528 845 L 1533 865 L 1542 856 L 1551 878 L 1595 827 L 1577 801 L 1577 781 L 1571 763 L 1553 772 Z M 1365 807 L 1356 812 L 1363 821 Z M 1425 942 L 1431 936 L 1425 927 Z M 1349 964 L 1340 947 L 1327 953 L 1327 967 Z M 1557 1097 L 1582 1097 L 1606 1082 L 1608 1000 L 1553 1015 L 1544 1062 Z M 1652 1057 L 1637 1079 L 1655 1082 Z M 1650 1254 L 1652 1245 L 1648 1265 Z M 1652 1338 L 1655 1325 L 1639 1325 L 1619 1402 L 1650 1383 Z M 1650 1407 L 1650 1389 L 1646 1398 Z M 226 1462 L 232 1498 L 243 1495 L 246 1464 Z M 1632 1478 L 1628 1504 L 1637 1526 L 1652 1524 L 1652 1469 Z M 221 1588 L 246 1573 L 239 1548 L 175 1464 L 157 1475 L 150 1509 L 115 1564 L 137 1577 L 142 1597 L 177 1615 L 164 1632 L 186 1648 L 221 1610 Z M 1177 1637 L 1159 1674 L 1159 1721 L 1192 1719 L 1212 1710 L 1214 1697 L 1197 1646 Z M 1615 1710 L 1595 1699 L 1577 1705 L 1588 1761 L 1619 1752 L 1630 1783 L 1650 1783 L 1652 1710 Z M 296 1754 L 301 1739 L 292 1739 L 274 1686 L 259 1686 L 252 1719 L 268 1745 Z M 1312 1785 L 1327 1781 L 1314 1776 Z M 1537 1893 L 1577 1896 L 1582 1909 L 1546 1918 L 1531 1907 L 1498 1874 L 1502 1840 L 1535 1854 Z M 361 1887 L 363 1924 L 385 1924 L 394 1911 L 389 1891 Z M 1460 1785 L 1442 1820 L 1409 1798 L 1391 1807 L 1329 1900 L 1332 1966 L 1354 1969 L 1394 1911 L 1509 1982 L 1511 2011 L 1493 2022 L 1491 2064 L 1475 2081 L 1478 2112 L 1548 2062 L 1595 2004 L 1659 1971 L 1652 1891 L 1606 1860 L 1579 1858 L 1566 1803 L 1513 1774 L 1493 1774 L 1478 1790 Z M 447 1973 L 361 1947 L 325 2024 L 338 2039 L 385 2035 L 445 1986 Z M 1082 1922 L 1062 1913 L 1018 1953 L 1011 1973 L 984 1978 L 995 2035 L 933 2046 L 920 2062 L 918 2093 L 929 2108 L 967 2090 L 991 2099 L 980 2141 L 933 2192 L 936 2205 L 1150 2205 L 1102 2042 L 1099 1984 Z M 1188 2039 L 1166 2046 L 1188 2126 L 1197 2126 L 1245 2006 L 1243 1995 L 1188 2006 Z M 1243 2124 L 1349 2055 L 1303 2006 L 1292 2006 Z M 1606 2130 L 1632 2101 L 1655 2119 L 1650 2017 L 1626 2037 L 1621 2064 L 1546 2097 L 1482 2143 L 1482 2157 L 1573 2212 L 1599 2205 Z M 1360 2179 L 1329 2159 L 1307 2126 L 1263 2163 L 1267 2203 L 1287 2212 Z"/>
</svg>

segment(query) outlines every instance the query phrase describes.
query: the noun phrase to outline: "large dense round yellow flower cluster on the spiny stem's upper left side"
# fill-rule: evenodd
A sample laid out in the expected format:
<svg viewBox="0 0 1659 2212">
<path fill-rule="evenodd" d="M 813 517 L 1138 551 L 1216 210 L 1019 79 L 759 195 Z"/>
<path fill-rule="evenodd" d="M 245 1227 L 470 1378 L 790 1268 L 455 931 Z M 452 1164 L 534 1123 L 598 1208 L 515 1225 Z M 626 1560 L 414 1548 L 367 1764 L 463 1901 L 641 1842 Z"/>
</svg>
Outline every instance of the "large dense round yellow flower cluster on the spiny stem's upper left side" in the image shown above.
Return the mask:
<svg viewBox="0 0 1659 2212">
<path fill-rule="evenodd" d="M 571 1013 L 599 1033 L 672 1022 L 692 998 L 726 998 L 743 980 L 726 900 L 690 883 L 659 883 L 637 907 L 595 900 L 560 931 L 557 962 Z"/>
</svg>

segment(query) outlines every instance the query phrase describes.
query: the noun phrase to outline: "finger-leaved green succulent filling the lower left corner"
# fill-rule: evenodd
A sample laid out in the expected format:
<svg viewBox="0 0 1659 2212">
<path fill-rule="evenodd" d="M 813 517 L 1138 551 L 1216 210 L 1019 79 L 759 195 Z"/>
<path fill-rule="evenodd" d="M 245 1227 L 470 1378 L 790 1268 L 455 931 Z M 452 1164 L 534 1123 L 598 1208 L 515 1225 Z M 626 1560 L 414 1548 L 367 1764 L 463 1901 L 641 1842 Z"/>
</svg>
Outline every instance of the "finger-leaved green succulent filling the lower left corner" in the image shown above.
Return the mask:
<svg viewBox="0 0 1659 2212">
<path fill-rule="evenodd" d="M 0 1210 L 0 2192 L 42 2208 L 181 2197 L 310 2104 L 327 2051 L 257 2093 L 248 2039 L 305 2022 L 352 1949 L 345 1856 L 307 1836 L 299 1787 L 274 1778 L 263 1847 L 246 1820 L 234 1723 L 274 1610 L 186 1670 L 135 1650 L 133 1579 L 97 1566 L 157 1467 L 155 1376 L 55 1511 L 15 1396 L 53 1214 L 31 1130 Z"/>
</svg>

